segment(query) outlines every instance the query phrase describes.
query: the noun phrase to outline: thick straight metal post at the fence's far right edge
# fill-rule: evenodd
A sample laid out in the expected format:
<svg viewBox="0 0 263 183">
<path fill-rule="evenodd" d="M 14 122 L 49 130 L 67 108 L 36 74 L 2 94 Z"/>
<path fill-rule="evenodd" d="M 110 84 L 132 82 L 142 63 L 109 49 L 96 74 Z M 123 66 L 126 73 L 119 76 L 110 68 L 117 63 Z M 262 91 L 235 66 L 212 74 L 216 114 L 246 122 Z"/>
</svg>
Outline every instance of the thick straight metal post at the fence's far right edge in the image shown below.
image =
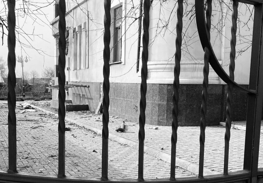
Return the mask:
<svg viewBox="0 0 263 183">
<path fill-rule="evenodd" d="M 259 141 L 263 100 L 262 15 L 263 5 L 255 5 L 249 89 L 256 90 L 257 94 L 248 95 L 244 152 L 244 169 L 250 171 L 250 182 L 252 183 L 257 182 L 257 167 L 259 158 Z"/>
</svg>

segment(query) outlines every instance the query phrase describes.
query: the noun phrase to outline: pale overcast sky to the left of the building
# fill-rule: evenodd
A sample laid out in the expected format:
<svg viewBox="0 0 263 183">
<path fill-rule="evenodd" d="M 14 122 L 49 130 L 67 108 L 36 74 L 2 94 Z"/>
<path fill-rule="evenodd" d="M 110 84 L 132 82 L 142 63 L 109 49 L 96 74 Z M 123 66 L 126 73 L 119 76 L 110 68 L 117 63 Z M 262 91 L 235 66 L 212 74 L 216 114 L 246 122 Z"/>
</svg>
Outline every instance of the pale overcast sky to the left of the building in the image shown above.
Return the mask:
<svg viewBox="0 0 263 183">
<path fill-rule="evenodd" d="M 16 8 L 21 7 L 21 2 L 22 1 L 16 2 Z M 39 6 L 43 6 L 43 3 L 39 3 Z M 0 2 L 0 7 L 4 7 L 2 1 Z M 55 40 L 54 37 L 52 36 L 51 26 L 49 25 L 49 22 L 53 19 L 53 4 L 45 8 L 41 8 L 41 10 L 45 15 L 41 15 L 40 11 L 38 11 L 39 13 L 37 11 L 34 11 L 34 13 L 36 12 L 37 14 L 36 16 L 39 19 L 34 20 L 30 16 L 23 16 L 23 14 L 20 14 L 20 16 L 17 16 L 18 18 L 16 22 L 17 26 L 19 26 L 19 28 L 21 28 L 24 32 L 28 34 L 33 33 L 35 35 L 35 36 L 31 35 L 29 38 L 25 34 L 21 34 L 21 36 L 19 36 L 20 41 L 27 45 L 29 45 L 30 43 L 34 48 L 41 50 L 41 51 L 36 51 L 35 49 L 26 48 L 25 46 L 22 46 L 24 49 L 23 50 L 21 48 L 21 44 L 17 41 L 16 56 L 21 56 L 21 54 L 23 58 L 29 56 L 30 61 L 24 63 L 24 71 L 30 72 L 31 70 L 36 70 L 39 73 L 40 77 L 42 77 L 43 67 L 46 66 L 54 67 L 54 46 L 55 46 L 54 45 Z M 39 37 L 36 35 L 38 35 Z M 26 40 L 22 36 L 26 37 Z M 27 41 L 29 41 L 29 43 Z M 0 42 L 2 43 L 2 40 L 0 40 Z M 2 46 L 2 44 L 0 44 L 0 50 L 1 50 L 0 56 L 2 56 L 3 59 L 7 62 L 7 54 L 8 54 L 7 36 L 4 37 L 4 45 Z M 16 62 L 16 73 L 17 73 L 17 77 L 22 77 L 21 63 Z"/>
</svg>

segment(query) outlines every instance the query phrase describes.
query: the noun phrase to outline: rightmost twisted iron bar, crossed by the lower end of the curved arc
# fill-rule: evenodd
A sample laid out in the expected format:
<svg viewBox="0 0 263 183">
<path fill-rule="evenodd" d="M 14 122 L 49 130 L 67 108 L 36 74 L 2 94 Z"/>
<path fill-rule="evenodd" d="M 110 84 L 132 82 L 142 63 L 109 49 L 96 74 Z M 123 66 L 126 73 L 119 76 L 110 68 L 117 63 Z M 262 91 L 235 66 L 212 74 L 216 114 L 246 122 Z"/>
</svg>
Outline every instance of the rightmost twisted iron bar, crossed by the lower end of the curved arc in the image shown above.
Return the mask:
<svg viewBox="0 0 263 183">
<path fill-rule="evenodd" d="M 235 71 L 235 57 L 236 57 L 236 30 L 237 30 L 237 15 L 238 15 L 238 1 L 233 0 L 233 13 L 232 13 L 232 26 L 231 26 L 231 40 L 230 40 L 230 64 L 229 76 L 234 81 Z M 230 128 L 231 128 L 231 104 L 232 104 L 232 90 L 233 86 L 227 84 L 227 97 L 226 97 L 226 132 L 225 132 L 225 156 L 224 156 L 224 175 L 228 174 L 228 158 L 229 158 L 229 141 L 230 141 Z"/>
</svg>

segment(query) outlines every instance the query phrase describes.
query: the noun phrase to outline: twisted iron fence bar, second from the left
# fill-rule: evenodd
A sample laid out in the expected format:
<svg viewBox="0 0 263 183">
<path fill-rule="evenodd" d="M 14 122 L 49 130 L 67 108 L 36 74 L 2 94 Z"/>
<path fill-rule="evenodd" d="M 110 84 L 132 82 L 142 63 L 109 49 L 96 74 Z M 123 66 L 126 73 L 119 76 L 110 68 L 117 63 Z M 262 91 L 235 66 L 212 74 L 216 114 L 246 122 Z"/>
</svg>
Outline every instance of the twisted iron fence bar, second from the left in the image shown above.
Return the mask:
<svg viewBox="0 0 263 183">
<path fill-rule="evenodd" d="M 66 3 L 65 0 L 59 0 L 58 3 L 58 30 L 59 30 L 59 40 L 58 40 L 58 177 L 65 177 L 65 49 L 66 49 Z"/>
</svg>

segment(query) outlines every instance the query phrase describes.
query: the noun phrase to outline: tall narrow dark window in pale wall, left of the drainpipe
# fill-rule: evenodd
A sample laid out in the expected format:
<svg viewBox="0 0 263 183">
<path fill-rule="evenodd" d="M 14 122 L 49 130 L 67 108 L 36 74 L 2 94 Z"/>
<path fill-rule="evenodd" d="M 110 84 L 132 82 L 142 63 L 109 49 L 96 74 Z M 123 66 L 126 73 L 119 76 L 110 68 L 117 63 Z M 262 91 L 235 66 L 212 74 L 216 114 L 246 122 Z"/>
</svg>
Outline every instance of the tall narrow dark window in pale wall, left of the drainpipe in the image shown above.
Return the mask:
<svg viewBox="0 0 263 183">
<path fill-rule="evenodd" d="M 114 9 L 113 62 L 122 61 L 122 6 Z"/>
</svg>

